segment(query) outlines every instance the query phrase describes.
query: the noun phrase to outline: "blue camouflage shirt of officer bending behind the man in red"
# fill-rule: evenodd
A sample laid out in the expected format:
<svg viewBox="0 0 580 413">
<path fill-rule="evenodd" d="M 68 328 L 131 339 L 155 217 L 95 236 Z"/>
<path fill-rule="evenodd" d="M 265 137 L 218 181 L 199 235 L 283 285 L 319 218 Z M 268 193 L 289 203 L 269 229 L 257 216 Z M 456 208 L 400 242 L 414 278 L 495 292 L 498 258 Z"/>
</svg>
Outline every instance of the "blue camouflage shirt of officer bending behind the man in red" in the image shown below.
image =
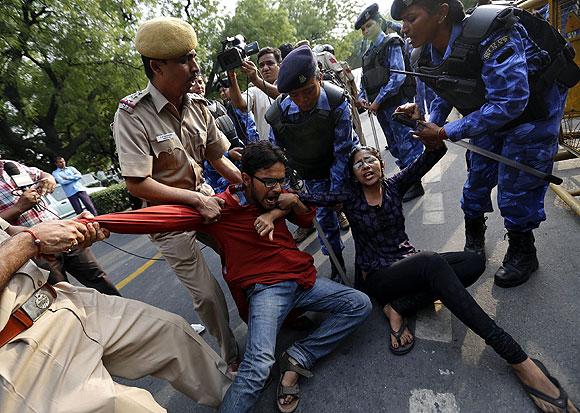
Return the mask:
<svg viewBox="0 0 580 413">
<path fill-rule="evenodd" d="M 284 122 L 294 123 L 299 122 L 304 116 L 292 99 L 286 97 L 280 102 L 281 112 L 287 116 Z M 320 88 L 320 96 L 315 108 L 322 110 L 330 110 L 328 97 L 324 88 Z M 348 173 L 348 158 L 350 151 L 355 145 L 359 144 L 358 136 L 352 129 L 352 117 L 350 115 L 350 104 L 345 99 L 335 111 L 340 114 L 337 116 L 336 126 L 334 127 L 334 161 L 330 167 L 330 190 L 332 192 L 339 192 L 345 182 L 345 176 Z M 270 130 L 270 142 L 277 145 L 276 136 L 273 129 Z"/>
</svg>

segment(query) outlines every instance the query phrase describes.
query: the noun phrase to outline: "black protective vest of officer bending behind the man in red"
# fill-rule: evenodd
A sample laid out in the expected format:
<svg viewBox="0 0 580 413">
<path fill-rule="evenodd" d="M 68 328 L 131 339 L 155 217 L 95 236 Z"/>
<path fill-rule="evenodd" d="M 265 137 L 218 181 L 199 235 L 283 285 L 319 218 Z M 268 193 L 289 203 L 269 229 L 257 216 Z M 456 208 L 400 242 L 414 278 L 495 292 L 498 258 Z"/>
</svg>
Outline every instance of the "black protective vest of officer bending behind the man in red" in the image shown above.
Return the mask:
<svg viewBox="0 0 580 413">
<path fill-rule="evenodd" d="M 330 110 L 317 108 L 297 123 L 290 123 L 288 109 L 282 112 L 280 107 L 287 96 L 283 94 L 266 112 L 266 121 L 272 126 L 276 142 L 286 152 L 288 165 L 304 179 L 329 179 L 334 161 L 334 128 L 341 115 L 337 108 L 346 99 L 346 93 L 329 82 L 323 82 L 323 88 Z"/>
</svg>

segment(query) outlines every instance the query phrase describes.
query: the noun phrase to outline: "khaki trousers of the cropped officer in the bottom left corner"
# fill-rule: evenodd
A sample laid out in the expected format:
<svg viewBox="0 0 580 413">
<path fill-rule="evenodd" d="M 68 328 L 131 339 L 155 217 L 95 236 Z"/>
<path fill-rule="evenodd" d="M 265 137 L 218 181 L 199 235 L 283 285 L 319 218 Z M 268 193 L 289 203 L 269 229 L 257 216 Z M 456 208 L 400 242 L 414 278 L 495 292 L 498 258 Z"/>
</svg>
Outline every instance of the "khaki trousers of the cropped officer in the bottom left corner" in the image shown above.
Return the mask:
<svg viewBox="0 0 580 413">
<path fill-rule="evenodd" d="M 153 375 L 216 407 L 225 362 L 181 317 L 68 283 L 28 330 L 0 348 L 0 412 L 165 412 L 111 375 Z"/>
</svg>

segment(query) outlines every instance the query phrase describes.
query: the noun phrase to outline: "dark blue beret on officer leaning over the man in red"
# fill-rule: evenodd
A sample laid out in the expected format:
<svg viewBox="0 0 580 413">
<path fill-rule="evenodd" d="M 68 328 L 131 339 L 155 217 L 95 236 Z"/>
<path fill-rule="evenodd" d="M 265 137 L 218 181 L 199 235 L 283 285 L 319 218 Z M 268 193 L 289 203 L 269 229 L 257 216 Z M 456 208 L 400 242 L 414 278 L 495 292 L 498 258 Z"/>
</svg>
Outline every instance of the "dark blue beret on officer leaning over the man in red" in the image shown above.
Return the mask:
<svg viewBox="0 0 580 413">
<path fill-rule="evenodd" d="M 282 60 L 276 82 L 278 92 L 288 93 L 301 88 L 315 73 L 316 60 L 310 47 L 297 47 Z"/>
</svg>

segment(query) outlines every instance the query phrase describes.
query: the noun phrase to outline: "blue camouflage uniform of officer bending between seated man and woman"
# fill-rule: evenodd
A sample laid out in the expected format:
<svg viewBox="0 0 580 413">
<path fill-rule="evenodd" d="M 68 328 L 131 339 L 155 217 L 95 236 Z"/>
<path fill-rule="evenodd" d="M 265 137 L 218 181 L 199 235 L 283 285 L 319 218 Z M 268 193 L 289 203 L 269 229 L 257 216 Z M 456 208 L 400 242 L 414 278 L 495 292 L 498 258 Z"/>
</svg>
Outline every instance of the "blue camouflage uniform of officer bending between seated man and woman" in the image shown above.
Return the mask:
<svg viewBox="0 0 580 413">
<path fill-rule="evenodd" d="M 300 108 L 289 98 L 280 102 L 281 112 L 285 114 L 284 122 L 298 123 L 302 116 L 305 116 Z M 316 108 L 330 110 L 330 104 L 326 92 L 320 88 L 320 97 L 316 103 Z M 341 192 L 341 189 L 348 177 L 348 159 L 351 150 L 359 144 L 358 136 L 352 128 L 352 118 L 350 115 L 350 105 L 348 100 L 341 103 L 336 109 L 340 113 L 334 132 L 334 161 L 330 168 L 330 179 L 309 179 L 305 180 L 306 189 L 311 193 Z M 277 144 L 273 129 L 270 131 L 270 141 Z M 338 219 L 333 208 L 317 208 L 316 219 L 320 223 L 326 238 L 335 252 L 340 252 L 344 248 L 340 239 L 340 228 Z M 320 240 L 320 238 L 319 238 Z M 328 255 L 326 247 L 320 240 L 322 252 Z"/>
</svg>

